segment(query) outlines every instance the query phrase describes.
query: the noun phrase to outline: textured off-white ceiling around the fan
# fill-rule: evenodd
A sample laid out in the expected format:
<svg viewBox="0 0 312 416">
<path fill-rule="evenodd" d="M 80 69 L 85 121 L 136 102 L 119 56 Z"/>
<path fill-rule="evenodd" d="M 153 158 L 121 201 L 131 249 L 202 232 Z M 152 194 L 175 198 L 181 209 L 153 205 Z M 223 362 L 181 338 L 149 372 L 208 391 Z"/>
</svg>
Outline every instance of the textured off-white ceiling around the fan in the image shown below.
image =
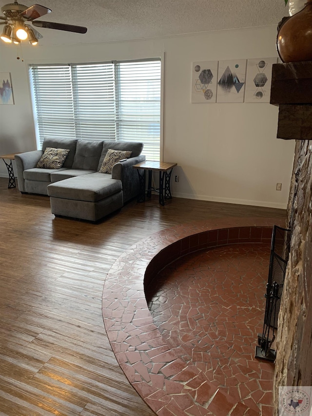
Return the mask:
<svg viewBox="0 0 312 416">
<path fill-rule="evenodd" d="M 7 3 L 0 0 L 1 7 Z M 284 0 L 40 0 L 40 4 L 52 9 L 52 13 L 39 20 L 88 28 L 85 35 L 37 28 L 43 35 L 41 45 L 147 39 L 277 25 L 287 15 Z"/>
</svg>

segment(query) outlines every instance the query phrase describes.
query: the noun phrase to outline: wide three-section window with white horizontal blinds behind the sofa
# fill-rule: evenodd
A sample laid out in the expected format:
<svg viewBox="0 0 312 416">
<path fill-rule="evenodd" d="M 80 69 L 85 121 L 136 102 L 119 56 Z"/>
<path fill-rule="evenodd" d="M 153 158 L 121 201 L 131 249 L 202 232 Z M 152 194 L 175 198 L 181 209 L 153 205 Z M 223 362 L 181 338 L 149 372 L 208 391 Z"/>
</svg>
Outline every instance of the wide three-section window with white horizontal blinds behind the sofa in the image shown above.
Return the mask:
<svg viewBox="0 0 312 416">
<path fill-rule="evenodd" d="M 160 158 L 160 59 L 29 66 L 38 146 L 44 138 L 133 140 Z"/>
</svg>

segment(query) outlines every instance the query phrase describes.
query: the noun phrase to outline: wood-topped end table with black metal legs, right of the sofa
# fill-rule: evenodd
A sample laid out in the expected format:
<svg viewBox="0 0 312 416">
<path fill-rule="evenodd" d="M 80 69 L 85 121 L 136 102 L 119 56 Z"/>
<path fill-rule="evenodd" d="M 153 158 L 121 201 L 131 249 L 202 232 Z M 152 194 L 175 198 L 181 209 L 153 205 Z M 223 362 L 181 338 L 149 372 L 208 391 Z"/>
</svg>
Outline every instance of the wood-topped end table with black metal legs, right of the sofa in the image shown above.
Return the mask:
<svg viewBox="0 0 312 416">
<path fill-rule="evenodd" d="M 173 168 L 176 163 L 172 162 L 157 162 L 157 161 L 144 161 L 134 165 L 134 169 L 137 169 L 137 174 L 140 180 L 140 190 L 137 198 L 138 202 L 145 201 L 145 177 L 146 171 L 148 171 L 148 188 L 147 196 L 151 197 L 152 194 L 152 173 L 159 172 L 159 203 L 165 205 L 165 199 L 171 199 L 170 191 L 170 178 Z"/>
</svg>

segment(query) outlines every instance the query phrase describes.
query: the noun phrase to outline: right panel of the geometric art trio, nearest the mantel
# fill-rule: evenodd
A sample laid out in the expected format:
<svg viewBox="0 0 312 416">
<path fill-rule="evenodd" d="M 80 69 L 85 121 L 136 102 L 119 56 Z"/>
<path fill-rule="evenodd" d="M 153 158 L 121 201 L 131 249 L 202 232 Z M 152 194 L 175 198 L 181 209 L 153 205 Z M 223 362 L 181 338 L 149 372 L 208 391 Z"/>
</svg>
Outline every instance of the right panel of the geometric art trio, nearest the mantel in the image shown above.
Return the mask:
<svg viewBox="0 0 312 416">
<path fill-rule="evenodd" d="M 245 102 L 270 102 L 273 63 L 277 58 L 247 60 Z"/>
</svg>

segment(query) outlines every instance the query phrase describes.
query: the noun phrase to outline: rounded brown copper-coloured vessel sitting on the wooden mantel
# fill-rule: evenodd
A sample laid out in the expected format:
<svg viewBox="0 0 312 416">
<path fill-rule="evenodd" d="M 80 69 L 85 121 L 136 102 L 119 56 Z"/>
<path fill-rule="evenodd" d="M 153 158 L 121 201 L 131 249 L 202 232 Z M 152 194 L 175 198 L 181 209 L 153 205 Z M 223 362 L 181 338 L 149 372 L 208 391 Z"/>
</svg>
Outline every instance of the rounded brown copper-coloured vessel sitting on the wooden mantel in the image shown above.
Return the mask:
<svg viewBox="0 0 312 416">
<path fill-rule="evenodd" d="M 283 62 L 312 60 L 312 0 L 281 25 L 276 46 Z"/>
</svg>

